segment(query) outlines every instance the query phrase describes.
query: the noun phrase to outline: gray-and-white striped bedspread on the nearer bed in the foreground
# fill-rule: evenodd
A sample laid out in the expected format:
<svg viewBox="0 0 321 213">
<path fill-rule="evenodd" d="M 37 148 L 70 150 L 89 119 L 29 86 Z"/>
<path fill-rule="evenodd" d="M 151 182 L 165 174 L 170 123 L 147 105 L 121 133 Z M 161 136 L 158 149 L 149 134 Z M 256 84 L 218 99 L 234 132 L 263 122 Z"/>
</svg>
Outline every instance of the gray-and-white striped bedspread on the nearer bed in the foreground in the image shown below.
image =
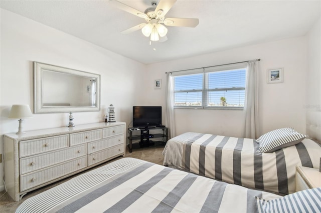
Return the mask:
<svg viewBox="0 0 321 213">
<path fill-rule="evenodd" d="M 255 196 L 280 197 L 125 157 L 28 198 L 16 212 L 255 212 Z"/>
</svg>

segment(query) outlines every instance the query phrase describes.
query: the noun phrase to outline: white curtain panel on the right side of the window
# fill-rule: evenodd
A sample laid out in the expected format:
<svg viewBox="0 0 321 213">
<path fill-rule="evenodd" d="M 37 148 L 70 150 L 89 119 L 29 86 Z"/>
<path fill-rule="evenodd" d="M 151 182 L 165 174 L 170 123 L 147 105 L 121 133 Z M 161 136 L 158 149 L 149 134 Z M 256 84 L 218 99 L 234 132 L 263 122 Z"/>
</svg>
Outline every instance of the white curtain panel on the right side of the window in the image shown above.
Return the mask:
<svg viewBox="0 0 321 213">
<path fill-rule="evenodd" d="M 258 61 L 250 60 L 246 73 L 244 137 L 255 139 L 258 137 L 258 71 Z"/>
</svg>

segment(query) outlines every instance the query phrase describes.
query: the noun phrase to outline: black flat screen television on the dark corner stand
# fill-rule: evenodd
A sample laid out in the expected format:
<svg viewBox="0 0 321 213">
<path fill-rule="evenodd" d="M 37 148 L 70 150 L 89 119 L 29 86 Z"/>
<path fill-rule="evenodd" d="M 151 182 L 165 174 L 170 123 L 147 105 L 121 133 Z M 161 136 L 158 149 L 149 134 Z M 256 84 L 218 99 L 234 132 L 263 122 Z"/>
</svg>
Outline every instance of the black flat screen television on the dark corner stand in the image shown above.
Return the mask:
<svg viewBox="0 0 321 213">
<path fill-rule="evenodd" d="M 132 126 L 148 128 L 162 125 L 162 106 L 133 106 Z"/>
</svg>

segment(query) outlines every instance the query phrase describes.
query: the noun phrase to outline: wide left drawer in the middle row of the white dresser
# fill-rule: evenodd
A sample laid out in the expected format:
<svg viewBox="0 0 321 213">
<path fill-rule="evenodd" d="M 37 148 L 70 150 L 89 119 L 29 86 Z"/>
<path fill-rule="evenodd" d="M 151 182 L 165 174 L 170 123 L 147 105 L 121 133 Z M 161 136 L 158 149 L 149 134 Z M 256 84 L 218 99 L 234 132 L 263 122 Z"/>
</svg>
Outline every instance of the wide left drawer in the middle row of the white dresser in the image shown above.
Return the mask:
<svg viewBox="0 0 321 213">
<path fill-rule="evenodd" d="M 87 145 L 73 146 L 20 159 L 20 174 L 45 168 L 87 154 Z"/>
</svg>

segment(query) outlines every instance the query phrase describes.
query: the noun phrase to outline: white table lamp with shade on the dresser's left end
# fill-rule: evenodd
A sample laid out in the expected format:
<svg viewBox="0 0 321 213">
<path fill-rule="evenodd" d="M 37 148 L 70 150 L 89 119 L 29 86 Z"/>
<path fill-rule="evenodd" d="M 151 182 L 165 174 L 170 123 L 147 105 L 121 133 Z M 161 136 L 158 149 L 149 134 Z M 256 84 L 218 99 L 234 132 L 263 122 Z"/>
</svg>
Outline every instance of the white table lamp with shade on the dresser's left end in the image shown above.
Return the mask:
<svg viewBox="0 0 321 213">
<path fill-rule="evenodd" d="M 24 134 L 23 122 L 24 118 L 32 117 L 32 112 L 28 104 L 14 104 L 11 107 L 9 118 L 18 118 L 19 120 L 19 131 L 16 134 Z"/>
</svg>

